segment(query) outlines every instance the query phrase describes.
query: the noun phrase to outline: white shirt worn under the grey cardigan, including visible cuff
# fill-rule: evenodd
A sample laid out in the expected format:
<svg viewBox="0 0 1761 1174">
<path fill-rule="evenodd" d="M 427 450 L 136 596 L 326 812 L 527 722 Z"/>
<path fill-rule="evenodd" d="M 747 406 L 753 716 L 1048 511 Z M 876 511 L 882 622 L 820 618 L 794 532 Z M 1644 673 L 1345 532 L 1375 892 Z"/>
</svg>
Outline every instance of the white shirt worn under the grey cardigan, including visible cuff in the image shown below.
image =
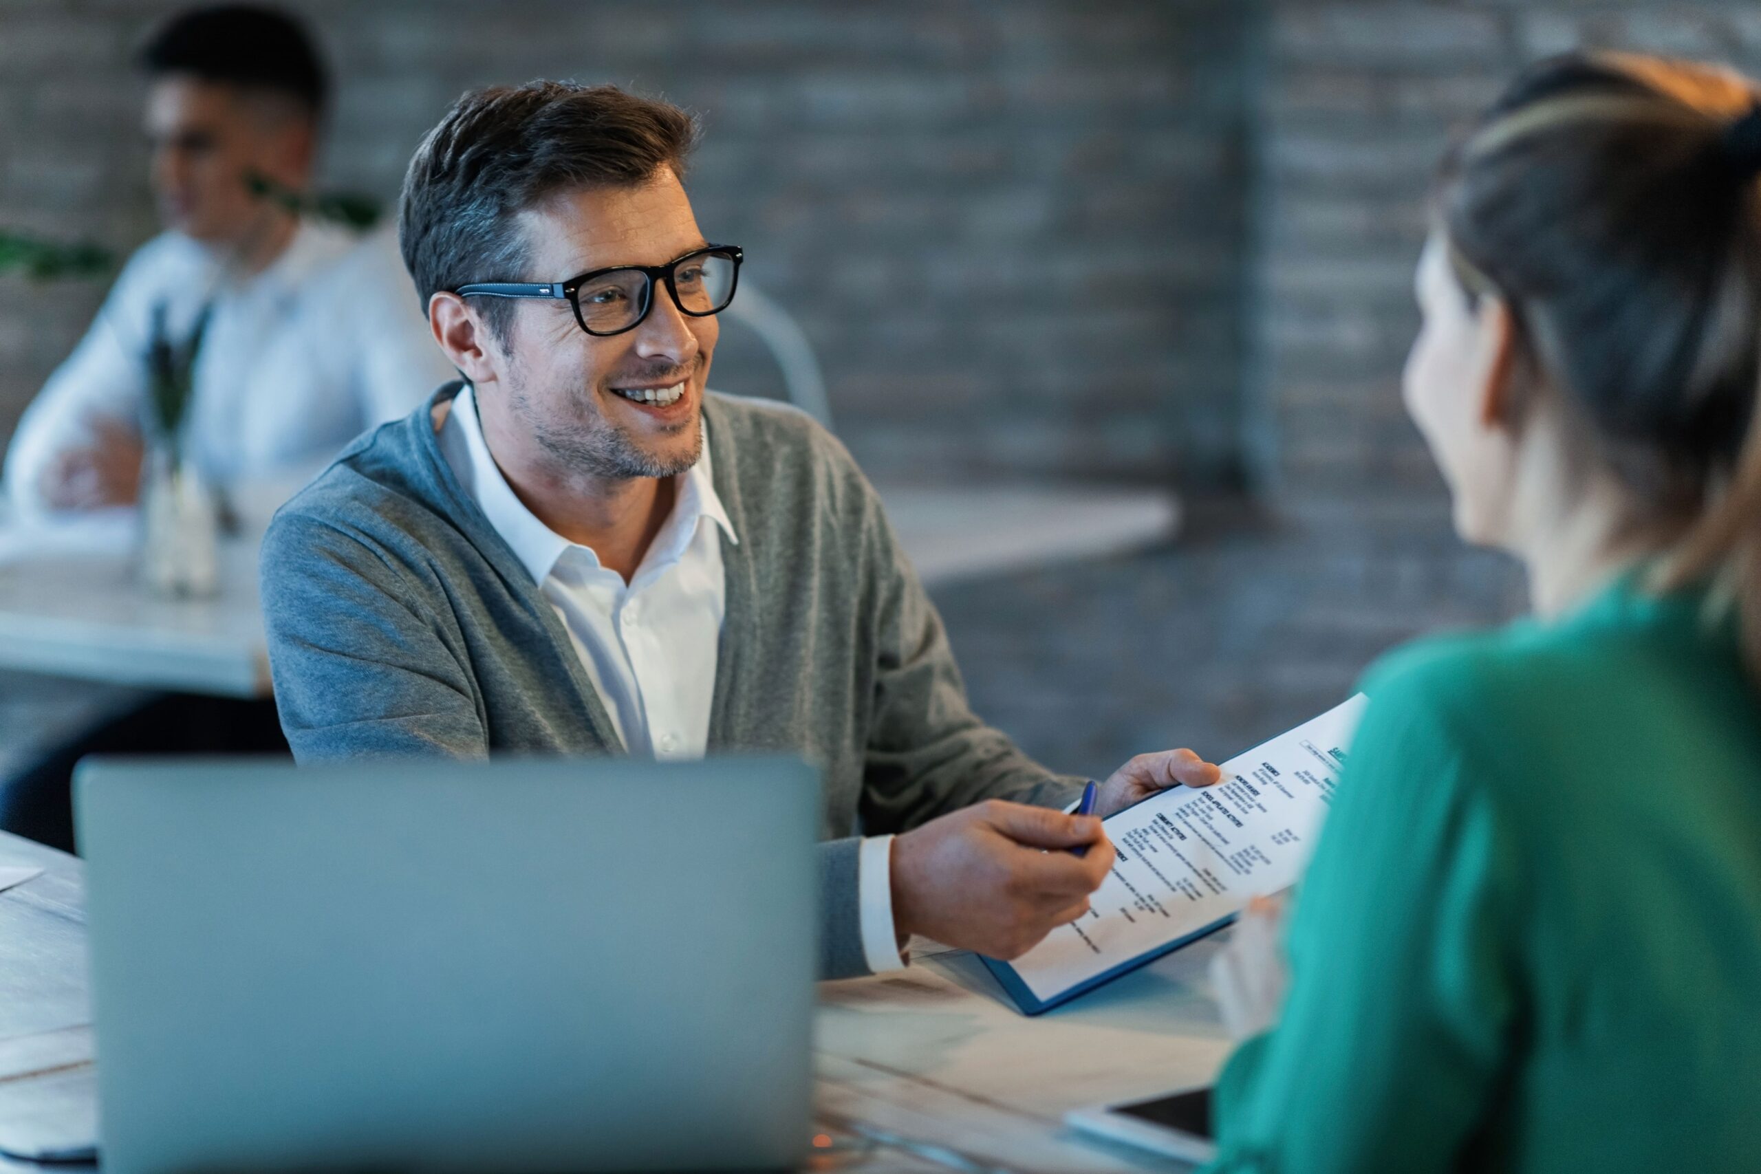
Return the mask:
<svg viewBox="0 0 1761 1174">
<path fill-rule="evenodd" d="M 625 583 L 592 547 L 564 539 L 514 495 L 483 438 L 472 387 L 453 400 L 438 440 L 460 484 L 556 611 L 625 750 L 701 759 L 727 611 L 722 535 L 740 544 L 715 493 L 708 442 L 676 479 L 673 512 Z M 873 836 L 858 854 L 863 952 L 875 972 L 903 966 L 893 929 L 891 850 L 891 836 Z"/>
</svg>

